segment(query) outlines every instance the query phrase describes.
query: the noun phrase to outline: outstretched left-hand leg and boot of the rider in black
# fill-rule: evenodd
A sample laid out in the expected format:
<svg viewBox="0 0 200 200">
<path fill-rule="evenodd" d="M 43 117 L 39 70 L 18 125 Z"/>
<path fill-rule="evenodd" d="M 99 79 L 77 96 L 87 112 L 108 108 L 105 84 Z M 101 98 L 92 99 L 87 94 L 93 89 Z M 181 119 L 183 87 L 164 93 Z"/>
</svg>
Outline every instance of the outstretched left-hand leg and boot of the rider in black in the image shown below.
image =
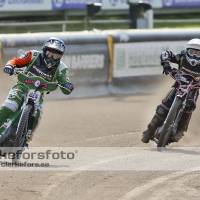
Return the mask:
<svg viewBox="0 0 200 200">
<path fill-rule="evenodd" d="M 174 100 L 176 94 L 176 86 L 176 84 L 173 85 L 173 87 L 167 93 L 166 97 L 162 100 L 162 104 L 157 107 L 155 115 L 147 126 L 147 130 L 143 132 L 141 139 L 142 142 L 148 143 L 149 140 L 153 137 L 155 130 L 164 122 L 169 112 L 169 108 L 171 107 Z"/>
</svg>

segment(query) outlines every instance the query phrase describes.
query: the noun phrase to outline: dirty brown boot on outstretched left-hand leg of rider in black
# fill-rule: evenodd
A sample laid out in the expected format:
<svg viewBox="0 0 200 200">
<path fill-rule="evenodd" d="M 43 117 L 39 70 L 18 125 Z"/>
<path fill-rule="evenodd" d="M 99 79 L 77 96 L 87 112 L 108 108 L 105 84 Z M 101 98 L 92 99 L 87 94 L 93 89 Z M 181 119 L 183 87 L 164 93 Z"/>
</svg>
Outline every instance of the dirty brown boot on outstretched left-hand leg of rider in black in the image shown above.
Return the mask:
<svg viewBox="0 0 200 200">
<path fill-rule="evenodd" d="M 160 119 L 157 115 L 154 115 L 153 119 L 148 124 L 148 129 L 143 132 L 141 141 L 143 143 L 148 143 L 149 140 L 153 138 L 155 130 L 161 125 L 162 122 L 162 119 Z"/>
</svg>

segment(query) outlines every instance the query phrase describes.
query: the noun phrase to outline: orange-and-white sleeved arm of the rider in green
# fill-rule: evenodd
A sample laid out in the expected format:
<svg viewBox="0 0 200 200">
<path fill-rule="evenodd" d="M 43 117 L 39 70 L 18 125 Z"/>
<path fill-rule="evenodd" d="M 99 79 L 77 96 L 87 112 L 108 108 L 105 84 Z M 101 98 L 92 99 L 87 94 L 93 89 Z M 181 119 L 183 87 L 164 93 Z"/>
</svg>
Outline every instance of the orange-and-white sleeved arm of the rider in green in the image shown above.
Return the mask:
<svg viewBox="0 0 200 200">
<path fill-rule="evenodd" d="M 12 66 L 12 67 L 15 66 L 17 68 L 25 67 L 27 64 L 31 62 L 31 60 L 33 60 L 37 56 L 37 54 L 38 51 L 35 50 L 28 51 L 18 58 L 13 58 L 9 60 L 6 63 L 6 66 Z"/>
</svg>

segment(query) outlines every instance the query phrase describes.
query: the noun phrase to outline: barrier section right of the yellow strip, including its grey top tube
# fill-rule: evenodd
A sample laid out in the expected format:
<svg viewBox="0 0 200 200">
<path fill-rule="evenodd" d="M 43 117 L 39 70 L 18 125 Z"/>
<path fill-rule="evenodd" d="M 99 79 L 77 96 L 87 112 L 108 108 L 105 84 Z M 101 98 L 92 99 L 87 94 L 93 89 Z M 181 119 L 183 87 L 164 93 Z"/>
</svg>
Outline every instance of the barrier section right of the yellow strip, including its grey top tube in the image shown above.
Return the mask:
<svg viewBox="0 0 200 200">
<path fill-rule="evenodd" d="M 112 78 L 126 79 L 161 74 L 162 51 L 169 49 L 180 53 L 190 39 L 199 38 L 200 29 L 137 29 L 106 33 L 112 35 L 114 41 Z"/>
</svg>

